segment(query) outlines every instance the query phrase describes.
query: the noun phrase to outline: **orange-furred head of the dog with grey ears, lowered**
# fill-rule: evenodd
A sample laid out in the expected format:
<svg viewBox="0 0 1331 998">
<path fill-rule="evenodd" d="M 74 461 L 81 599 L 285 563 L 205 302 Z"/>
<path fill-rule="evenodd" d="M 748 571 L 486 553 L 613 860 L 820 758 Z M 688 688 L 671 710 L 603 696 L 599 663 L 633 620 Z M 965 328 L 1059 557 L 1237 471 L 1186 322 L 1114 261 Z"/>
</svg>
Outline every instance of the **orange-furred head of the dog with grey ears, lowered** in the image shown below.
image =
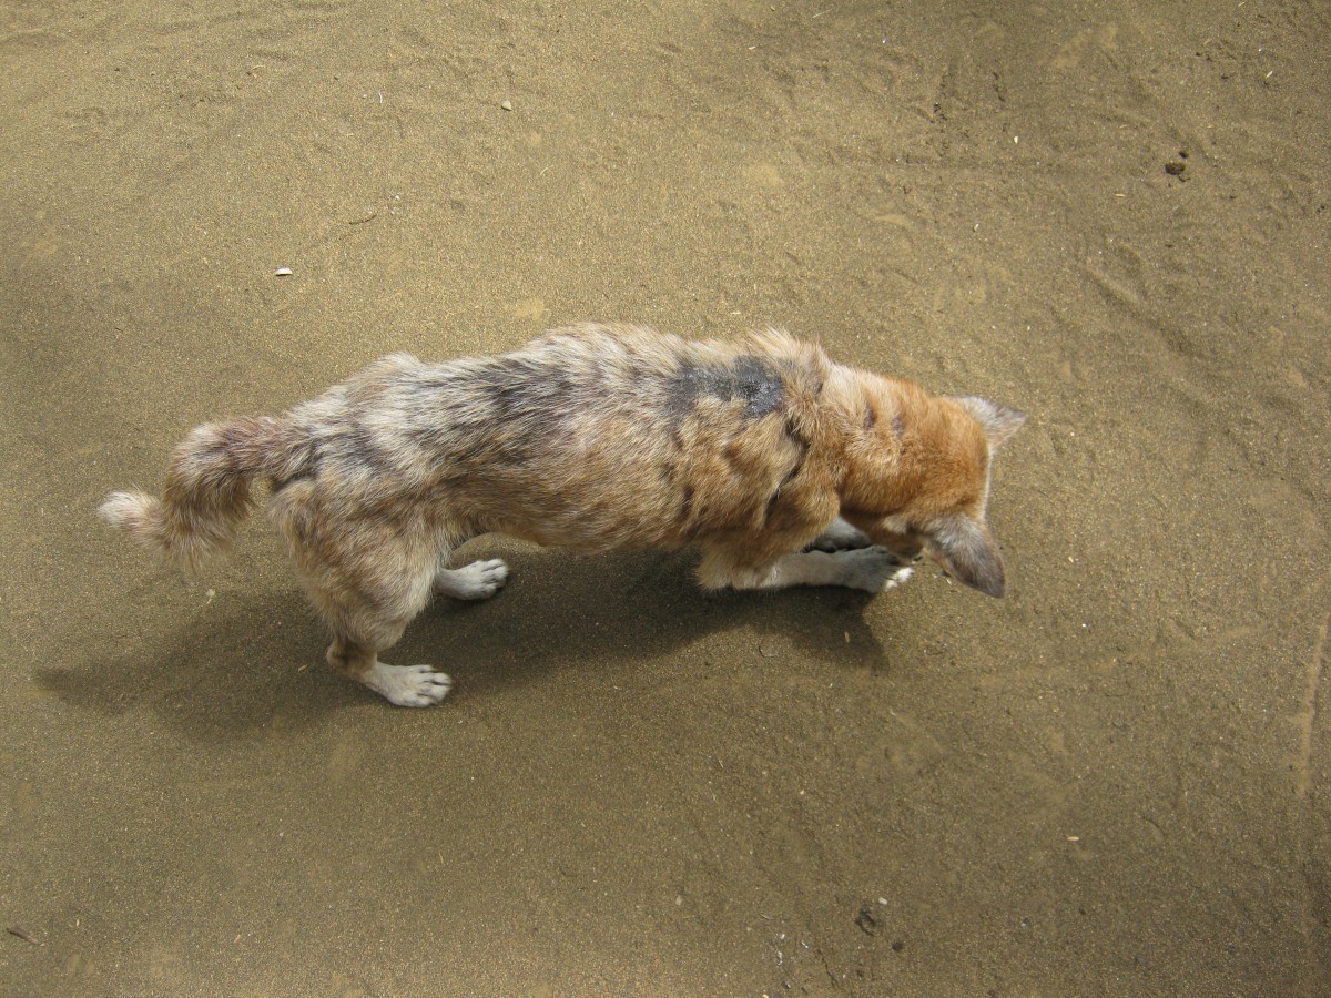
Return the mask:
<svg viewBox="0 0 1331 998">
<path fill-rule="evenodd" d="M 889 419 L 876 418 L 880 405 Z M 870 395 L 847 448 L 841 515 L 876 544 L 904 558 L 924 552 L 954 579 L 1002 596 L 1002 554 L 985 523 L 989 472 L 1025 420 L 988 399 L 934 398 L 901 383 L 890 401 Z"/>
</svg>

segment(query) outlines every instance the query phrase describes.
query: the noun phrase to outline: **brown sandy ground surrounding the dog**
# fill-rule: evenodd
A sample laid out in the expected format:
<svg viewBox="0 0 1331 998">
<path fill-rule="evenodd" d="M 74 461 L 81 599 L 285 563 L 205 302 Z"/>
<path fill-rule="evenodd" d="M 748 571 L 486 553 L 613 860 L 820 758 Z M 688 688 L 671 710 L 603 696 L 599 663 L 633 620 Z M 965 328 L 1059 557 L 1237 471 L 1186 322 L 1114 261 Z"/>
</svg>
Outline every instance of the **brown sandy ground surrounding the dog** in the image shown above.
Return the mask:
<svg viewBox="0 0 1331 998">
<path fill-rule="evenodd" d="M 8 5 L 0 991 L 1326 994 L 1328 47 L 1311 0 Z M 1026 410 L 1008 597 L 480 539 L 405 711 L 262 518 L 193 587 L 95 520 L 196 423 L 579 319 Z"/>
</svg>

